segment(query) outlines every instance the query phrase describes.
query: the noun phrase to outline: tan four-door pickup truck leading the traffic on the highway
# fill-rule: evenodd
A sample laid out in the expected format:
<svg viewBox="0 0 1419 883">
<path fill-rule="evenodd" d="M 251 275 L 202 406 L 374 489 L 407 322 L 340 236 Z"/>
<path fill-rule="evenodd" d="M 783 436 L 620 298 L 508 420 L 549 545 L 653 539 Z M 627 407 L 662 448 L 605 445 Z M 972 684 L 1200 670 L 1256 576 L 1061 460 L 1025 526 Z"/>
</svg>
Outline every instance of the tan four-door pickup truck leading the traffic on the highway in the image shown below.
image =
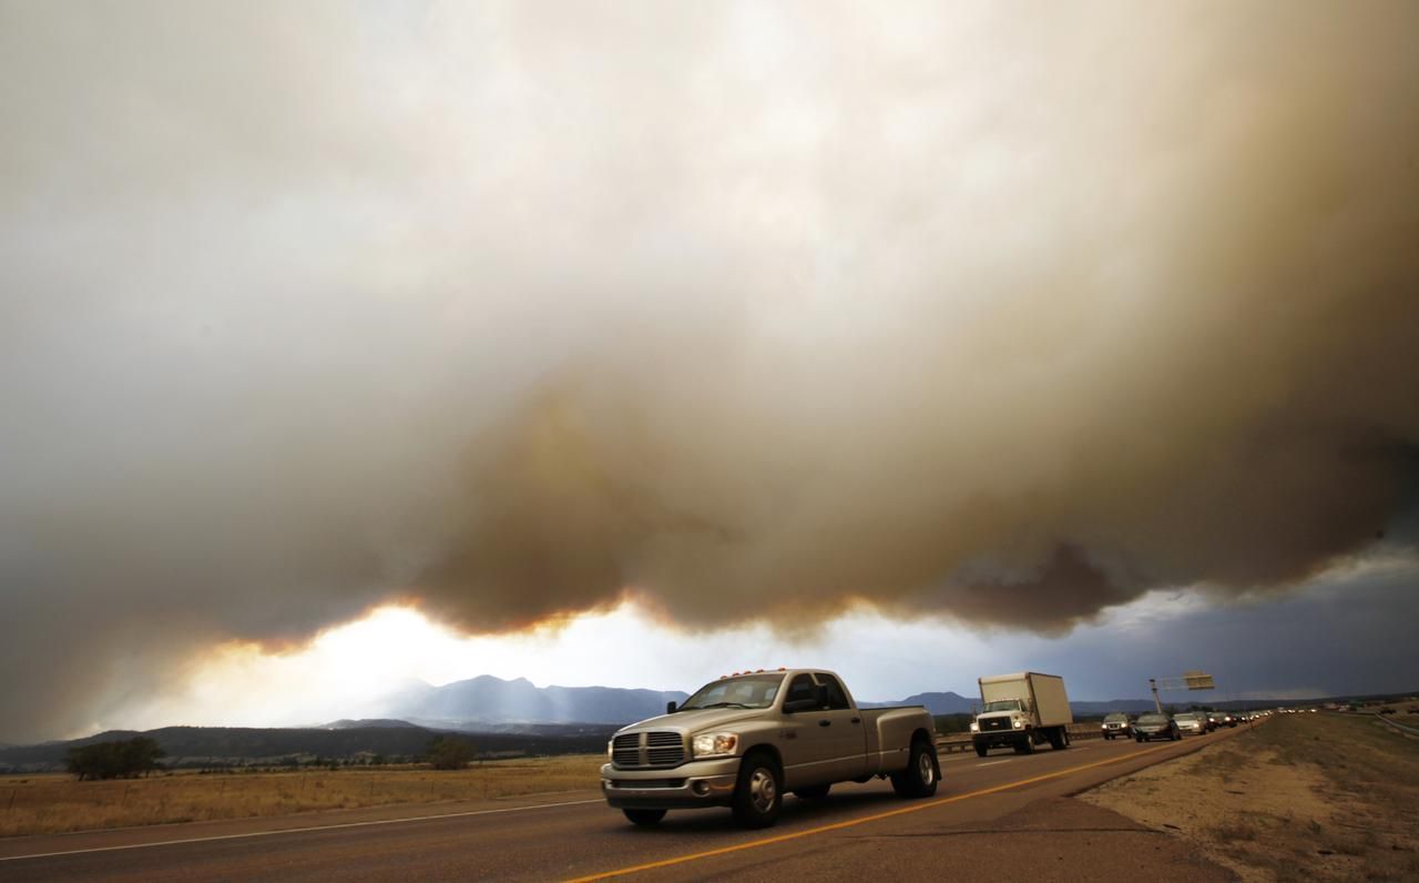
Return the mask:
<svg viewBox="0 0 1419 883">
<path fill-rule="evenodd" d="M 934 737 L 921 706 L 858 708 L 832 671 L 735 673 L 617 730 L 602 794 L 636 825 L 668 809 L 729 806 L 741 825 L 766 828 L 785 791 L 822 801 L 834 782 L 890 777 L 901 796 L 934 795 Z"/>
</svg>

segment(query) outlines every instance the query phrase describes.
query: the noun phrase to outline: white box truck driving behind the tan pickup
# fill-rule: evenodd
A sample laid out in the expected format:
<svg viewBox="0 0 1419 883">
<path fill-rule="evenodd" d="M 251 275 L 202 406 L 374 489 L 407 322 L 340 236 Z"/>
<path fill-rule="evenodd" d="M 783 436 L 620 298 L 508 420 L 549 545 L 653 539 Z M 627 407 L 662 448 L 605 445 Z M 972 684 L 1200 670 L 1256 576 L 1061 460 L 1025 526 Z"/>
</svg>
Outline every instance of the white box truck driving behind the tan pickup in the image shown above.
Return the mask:
<svg viewBox="0 0 1419 883">
<path fill-rule="evenodd" d="M 1057 674 L 1019 671 L 979 679 L 981 714 L 971 723 L 971 742 L 985 757 L 990 748 L 1015 748 L 1032 754 L 1049 742 L 1069 748 L 1069 724 L 1074 714 Z"/>
</svg>

